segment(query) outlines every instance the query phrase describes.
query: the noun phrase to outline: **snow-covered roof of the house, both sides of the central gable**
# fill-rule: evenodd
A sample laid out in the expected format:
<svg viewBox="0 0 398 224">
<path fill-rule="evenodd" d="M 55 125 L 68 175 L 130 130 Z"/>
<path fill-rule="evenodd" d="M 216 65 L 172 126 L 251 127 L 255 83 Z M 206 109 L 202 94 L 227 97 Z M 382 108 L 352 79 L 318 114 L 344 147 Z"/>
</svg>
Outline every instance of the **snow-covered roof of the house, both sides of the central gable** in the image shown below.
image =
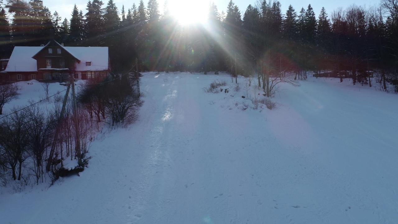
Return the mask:
<svg viewBox="0 0 398 224">
<path fill-rule="evenodd" d="M 103 71 L 108 70 L 108 47 L 63 47 L 66 51 L 80 60 L 76 63 L 76 71 Z M 6 72 L 37 71 L 36 60 L 32 57 L 41 47 L 14 47 Z M 91 66 L 86 66 L 91 61 Z"/>
</svg>

